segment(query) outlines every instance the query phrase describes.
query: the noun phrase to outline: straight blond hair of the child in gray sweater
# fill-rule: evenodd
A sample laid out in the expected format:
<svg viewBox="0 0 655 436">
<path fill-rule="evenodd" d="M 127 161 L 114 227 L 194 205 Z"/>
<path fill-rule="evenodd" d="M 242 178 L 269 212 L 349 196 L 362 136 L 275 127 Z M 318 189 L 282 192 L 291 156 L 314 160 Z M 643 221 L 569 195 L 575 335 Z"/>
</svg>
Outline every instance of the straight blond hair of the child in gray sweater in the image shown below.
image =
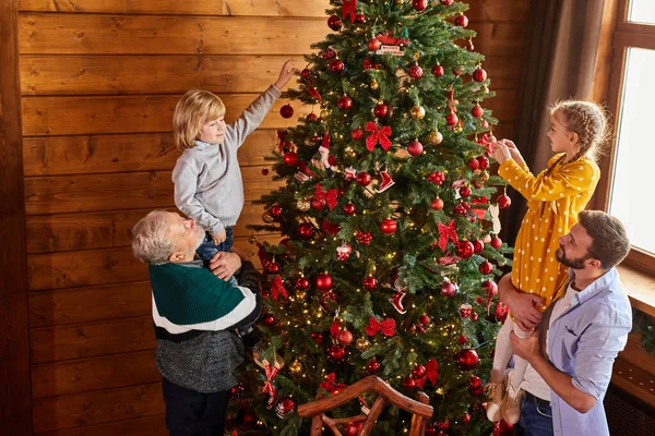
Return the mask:
<svg viewBox="0 0 655 436">
<path fill-rule="evenodd" d="M 207 121 L 225 114 L 225 105 L 209 90 L 192 89 L 180 98 L 172 114 L 172 135 L 176 147 L 183 152 L 195 147 L 195 140 Z"/>
</svg>

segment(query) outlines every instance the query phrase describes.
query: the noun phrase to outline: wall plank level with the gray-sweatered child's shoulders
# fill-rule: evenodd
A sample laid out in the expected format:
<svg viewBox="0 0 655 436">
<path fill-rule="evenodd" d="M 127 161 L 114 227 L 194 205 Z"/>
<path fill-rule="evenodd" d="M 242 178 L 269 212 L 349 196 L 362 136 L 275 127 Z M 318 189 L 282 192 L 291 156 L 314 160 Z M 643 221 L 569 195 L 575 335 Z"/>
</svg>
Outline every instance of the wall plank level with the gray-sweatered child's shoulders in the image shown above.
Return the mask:
<svg viewBox="0 0 655 436">
<path fill-rule="evenodd" d="M 239 148 L 241 166 L 266 166 L 276 131 L 260 129 Z M 180 153 L 171 133 L 33 136 L 23 141 L 25 175 L 170 170 Z"/>
</svg>

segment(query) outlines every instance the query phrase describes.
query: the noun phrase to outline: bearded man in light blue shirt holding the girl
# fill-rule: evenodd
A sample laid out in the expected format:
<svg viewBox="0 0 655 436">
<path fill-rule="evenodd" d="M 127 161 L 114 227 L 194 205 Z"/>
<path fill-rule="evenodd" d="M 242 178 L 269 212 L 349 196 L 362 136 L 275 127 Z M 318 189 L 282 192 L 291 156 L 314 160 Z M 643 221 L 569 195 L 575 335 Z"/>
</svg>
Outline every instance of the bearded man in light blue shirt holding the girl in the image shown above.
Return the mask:
<svg viewBox="0 0 655 436">
<path fill-rule="evenodd" d="M 617 354 L 632 327 L 628 295 L 615 268 L 630 242 L 621 222 L 599 210 L 579 215 L 560 238 L 556 257 L 570 268 L 560 298 L 541 314 L 534 295 L 516 292 L 505 276 L 500 296 L 517 324 L 538 332 L 512 349 L 529 366 L 521 387 L 519 435 L 609 435 L 603 399 Z"/>
</svg>

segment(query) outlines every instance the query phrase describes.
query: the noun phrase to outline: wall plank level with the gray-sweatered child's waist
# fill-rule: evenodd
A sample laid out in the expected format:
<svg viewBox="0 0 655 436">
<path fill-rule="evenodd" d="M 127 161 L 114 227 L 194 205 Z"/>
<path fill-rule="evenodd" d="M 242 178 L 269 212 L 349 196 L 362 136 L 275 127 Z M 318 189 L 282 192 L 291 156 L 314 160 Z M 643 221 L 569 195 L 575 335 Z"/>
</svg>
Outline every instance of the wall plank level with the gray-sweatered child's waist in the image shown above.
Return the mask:
<svg viewBox="0 0 655 436">
<path fill-rule="evenodd" d="M 25 179 L 27 215 L 166 207 L 172 202 L 170 171 L 75 174 Z M 259 167 L 241 168 L 246 201 L 259 199 L 281 182 Z"/>
</svg>

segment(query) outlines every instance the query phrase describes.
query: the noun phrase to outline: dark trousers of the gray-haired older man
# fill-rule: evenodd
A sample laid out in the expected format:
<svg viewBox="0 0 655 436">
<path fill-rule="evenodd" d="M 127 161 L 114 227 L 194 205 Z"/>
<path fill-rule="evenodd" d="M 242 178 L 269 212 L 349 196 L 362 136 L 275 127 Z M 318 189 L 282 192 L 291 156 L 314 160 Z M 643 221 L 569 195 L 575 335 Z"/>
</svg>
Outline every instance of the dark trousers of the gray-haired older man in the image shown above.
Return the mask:
<svg viewBox="0 0 655 436">
<path fill-rule="evenodd" d="M 200 393 L 164 378 L 166 428 L 170 436 L 223 436 L 229 390 Z"/>
</svg>

